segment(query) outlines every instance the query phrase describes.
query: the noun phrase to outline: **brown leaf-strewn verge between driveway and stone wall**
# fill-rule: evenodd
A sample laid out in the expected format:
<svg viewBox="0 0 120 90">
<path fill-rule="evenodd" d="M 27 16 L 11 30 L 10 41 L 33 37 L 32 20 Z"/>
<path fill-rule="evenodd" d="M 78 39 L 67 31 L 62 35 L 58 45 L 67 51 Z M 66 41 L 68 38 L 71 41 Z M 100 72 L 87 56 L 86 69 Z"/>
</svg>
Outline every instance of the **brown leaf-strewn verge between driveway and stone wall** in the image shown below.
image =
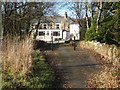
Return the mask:
<svg viewBox="0 0 120 90">
<path fill-rule="evenodd" d="M 101 56 L 100 54 L 93 52 L 92 50 L 89 51 L 97 61 L 102 63 L 101 66 L 102 71 L 93 73 L 90 75 L 89 80 L 87 80 L 87 87 L 88 88 L 118 88 L 119 87 L 119 76 L 118 76 L 118 64 L 114 65 L 110 63 Z"/>
</svg>

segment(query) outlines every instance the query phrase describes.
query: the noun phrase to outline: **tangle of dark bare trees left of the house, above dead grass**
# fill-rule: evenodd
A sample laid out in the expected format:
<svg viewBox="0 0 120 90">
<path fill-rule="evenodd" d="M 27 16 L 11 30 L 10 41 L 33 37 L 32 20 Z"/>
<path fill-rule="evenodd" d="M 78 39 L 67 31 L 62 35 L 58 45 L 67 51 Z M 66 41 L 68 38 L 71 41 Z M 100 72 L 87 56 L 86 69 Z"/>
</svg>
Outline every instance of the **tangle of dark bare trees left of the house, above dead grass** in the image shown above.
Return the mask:
<svg viewBox="0 0 120 90">
<path fill-rule="evenodd" d="M 12 33 L 18 34 L 25 30 L 29 34 L 30 21 L 40 19 L 42 16 L 50 13 L 55 3 L 50 2 L 3 2 L 3 26 L 4 35 Z"/>
</svg>

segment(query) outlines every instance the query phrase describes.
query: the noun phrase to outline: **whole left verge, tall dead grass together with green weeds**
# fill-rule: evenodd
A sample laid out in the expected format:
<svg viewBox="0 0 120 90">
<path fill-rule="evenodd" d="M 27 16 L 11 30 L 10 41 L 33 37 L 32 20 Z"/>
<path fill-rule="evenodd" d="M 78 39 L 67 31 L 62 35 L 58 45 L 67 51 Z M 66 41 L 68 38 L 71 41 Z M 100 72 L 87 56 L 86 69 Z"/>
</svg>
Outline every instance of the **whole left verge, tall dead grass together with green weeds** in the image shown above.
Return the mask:
<svg viewBox="0 0 120 90">
<path fill-rule="evenodd" d="M 33 51 L 32 47 L 27 37 L 23 41 L 4 41 L 2 89 L 52 87 L 54 71 L 40 51 Z"/>
</svg>

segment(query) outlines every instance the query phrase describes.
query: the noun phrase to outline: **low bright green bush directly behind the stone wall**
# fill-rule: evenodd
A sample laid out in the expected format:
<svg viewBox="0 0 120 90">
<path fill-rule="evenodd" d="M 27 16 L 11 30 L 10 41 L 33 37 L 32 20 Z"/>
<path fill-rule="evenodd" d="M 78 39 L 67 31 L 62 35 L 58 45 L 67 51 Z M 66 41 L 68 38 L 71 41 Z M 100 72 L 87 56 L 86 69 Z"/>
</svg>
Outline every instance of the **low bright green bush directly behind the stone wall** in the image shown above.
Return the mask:
<svg viewBox="0 0 120 90">
<path fill-rule="evenodd" d="M 90 29 L 86 31 L 85 40 L 96 40 L 101 43 L 118 45 L 118 39 L 116 39 L 118 36 L 115 36 L 107 27 L 109 27 L 107 23 L 102 23 L 101 26 L 99 26 L 99 30 L 96 32 L 96 26 L 91 26 Z"/>
</svg>

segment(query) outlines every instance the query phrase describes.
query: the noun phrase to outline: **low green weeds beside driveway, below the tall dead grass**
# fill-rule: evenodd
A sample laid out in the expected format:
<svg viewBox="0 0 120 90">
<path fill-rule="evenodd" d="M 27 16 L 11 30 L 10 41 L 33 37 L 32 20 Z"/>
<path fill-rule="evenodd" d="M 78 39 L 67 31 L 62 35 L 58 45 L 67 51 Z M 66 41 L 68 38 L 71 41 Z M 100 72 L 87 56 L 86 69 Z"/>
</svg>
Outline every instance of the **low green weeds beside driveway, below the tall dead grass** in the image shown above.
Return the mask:
<svg viewBox="0 0 120 90">
<path fill-rule="evenodd" d="M 25 76 L 10 76 L 7 72 L 3 72 L 3 89 L 52 87 L 52 81 L 54 80 L 53 70 L 43 61 L 43 55 L 40 51 L 33 52 L 32 57 L 33 64 L 30 73 Z"/>
</svg>

